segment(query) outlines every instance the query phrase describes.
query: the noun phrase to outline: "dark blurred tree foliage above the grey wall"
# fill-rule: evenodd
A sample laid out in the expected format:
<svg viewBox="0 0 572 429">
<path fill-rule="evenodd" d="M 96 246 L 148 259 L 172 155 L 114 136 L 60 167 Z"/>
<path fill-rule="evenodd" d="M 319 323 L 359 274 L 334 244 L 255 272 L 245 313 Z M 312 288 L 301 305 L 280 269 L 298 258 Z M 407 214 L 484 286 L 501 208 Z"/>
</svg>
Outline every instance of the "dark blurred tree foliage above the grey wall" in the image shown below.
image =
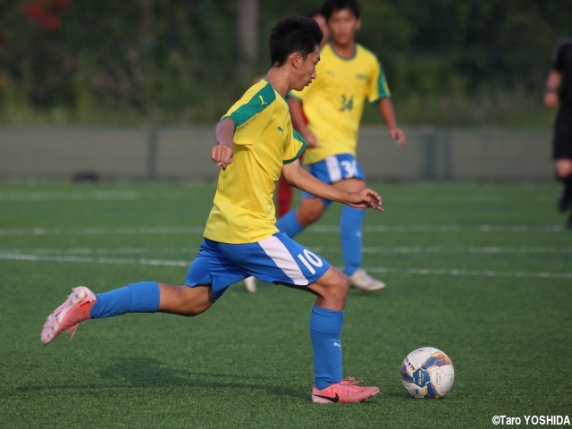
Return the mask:
<svg viewBox="0 0 572 429">
<path fill-rule="evenodd" d="M 572 32 L 568 3 L 363 0 L 358 41 L 379 56 L 408 121 L 439 122 L 428 100 L 480 100 L 486 111 L 502 99 L 540 97 L 553 46 Z M 2 0 L 0 119 L 60 111 L 63 122 L 214 122 L 249 76 L 267 69 L 273 24 L 312 9 L 302 0 L 261 0 L 260 55 L 244 73 L 238 5 Z"/>
</svg>

